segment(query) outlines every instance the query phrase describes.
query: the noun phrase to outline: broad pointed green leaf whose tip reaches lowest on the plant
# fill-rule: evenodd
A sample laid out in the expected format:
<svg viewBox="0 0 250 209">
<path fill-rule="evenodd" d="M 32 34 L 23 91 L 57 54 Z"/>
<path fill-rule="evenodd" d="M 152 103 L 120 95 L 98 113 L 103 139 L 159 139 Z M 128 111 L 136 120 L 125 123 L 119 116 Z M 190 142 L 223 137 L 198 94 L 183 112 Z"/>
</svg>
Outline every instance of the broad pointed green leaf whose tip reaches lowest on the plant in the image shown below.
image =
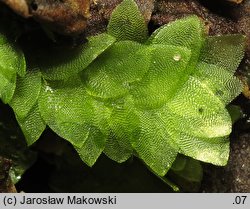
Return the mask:
<svg viewBox="0 0 250 209">
<path fill-rule="evenodd" d="M 159 176 L 164 176 L 174 162 L 178 150 L 166 129 L 165 121 L 150 112 L 138 113 L 140 129 L 132 139 L 139 157 Z"/>
</svg>

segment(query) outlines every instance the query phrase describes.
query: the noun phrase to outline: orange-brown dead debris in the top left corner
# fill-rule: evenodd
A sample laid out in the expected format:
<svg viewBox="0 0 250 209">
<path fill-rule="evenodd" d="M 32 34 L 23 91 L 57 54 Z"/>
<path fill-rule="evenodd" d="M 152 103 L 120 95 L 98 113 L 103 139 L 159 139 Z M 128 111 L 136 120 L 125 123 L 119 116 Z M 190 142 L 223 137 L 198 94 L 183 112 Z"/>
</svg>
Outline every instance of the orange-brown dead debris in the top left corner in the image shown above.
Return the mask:
<svg viewBox="0 0 250 209">
<path fill-rule="evenodd" d="M 89 0 L 0 0 L 19 15 L 33 17 L 51 31 L 75 35 L 86 28 Z"/>
</svg>

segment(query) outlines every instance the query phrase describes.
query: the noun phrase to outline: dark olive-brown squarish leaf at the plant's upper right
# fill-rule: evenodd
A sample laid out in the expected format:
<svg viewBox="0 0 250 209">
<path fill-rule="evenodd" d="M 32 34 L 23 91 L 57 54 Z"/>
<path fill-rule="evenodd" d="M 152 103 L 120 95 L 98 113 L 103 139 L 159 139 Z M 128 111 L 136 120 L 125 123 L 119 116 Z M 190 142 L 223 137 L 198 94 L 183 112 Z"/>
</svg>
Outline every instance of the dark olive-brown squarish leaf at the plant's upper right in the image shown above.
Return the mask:
<svg viewBox="0 0 250 209">
<path fill-rule="evenodd" d="M 207 37 L 200 61 L 222 67 L 234 73 L 244 56 L 245 36 L 223 35 Z"/>
</svg>

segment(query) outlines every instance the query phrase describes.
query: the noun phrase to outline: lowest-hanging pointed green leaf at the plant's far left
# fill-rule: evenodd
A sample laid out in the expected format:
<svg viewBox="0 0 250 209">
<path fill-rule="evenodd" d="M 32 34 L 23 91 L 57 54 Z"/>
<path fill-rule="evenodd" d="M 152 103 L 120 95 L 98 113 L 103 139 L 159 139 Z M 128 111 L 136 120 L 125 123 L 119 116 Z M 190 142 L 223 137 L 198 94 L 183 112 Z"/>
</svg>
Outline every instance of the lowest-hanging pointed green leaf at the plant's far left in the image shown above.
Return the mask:
<svg viewBox="0 0 250 209">
<path fill-rule="evenodd" d="M 19 123 L 28 145 L 36 142 L 46 128 L 37 103 L 30 109 L 26 117 L 19 117 L 16 114 L 17 122 Z"/>
</svg>

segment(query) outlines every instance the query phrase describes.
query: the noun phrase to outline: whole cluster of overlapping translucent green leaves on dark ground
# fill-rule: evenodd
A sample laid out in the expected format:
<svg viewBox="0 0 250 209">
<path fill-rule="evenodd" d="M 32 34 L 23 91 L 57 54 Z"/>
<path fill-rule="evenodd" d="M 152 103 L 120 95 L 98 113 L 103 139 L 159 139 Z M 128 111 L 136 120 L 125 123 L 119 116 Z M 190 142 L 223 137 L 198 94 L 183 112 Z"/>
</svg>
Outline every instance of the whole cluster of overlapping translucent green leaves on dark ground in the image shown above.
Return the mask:
<svg viewBox="0 0 250 209">
<path fill-rule="evenodd" d="M 23 53 L 0 34 L 0 95 L 29 145 L 49 126 L 89 166 L 101 153 L 119 163 L 137 156 L 159 176 L 178 153 L 227 163 L 225 107 L 242 90 L 234 72 L 244 36 L 207 36 L 189 16 L 149 37 L 136 3 L 124 0 L 107 33 L 88 40 L 74 51 L 34 53 L 26 69 Z"/>
</svg>

